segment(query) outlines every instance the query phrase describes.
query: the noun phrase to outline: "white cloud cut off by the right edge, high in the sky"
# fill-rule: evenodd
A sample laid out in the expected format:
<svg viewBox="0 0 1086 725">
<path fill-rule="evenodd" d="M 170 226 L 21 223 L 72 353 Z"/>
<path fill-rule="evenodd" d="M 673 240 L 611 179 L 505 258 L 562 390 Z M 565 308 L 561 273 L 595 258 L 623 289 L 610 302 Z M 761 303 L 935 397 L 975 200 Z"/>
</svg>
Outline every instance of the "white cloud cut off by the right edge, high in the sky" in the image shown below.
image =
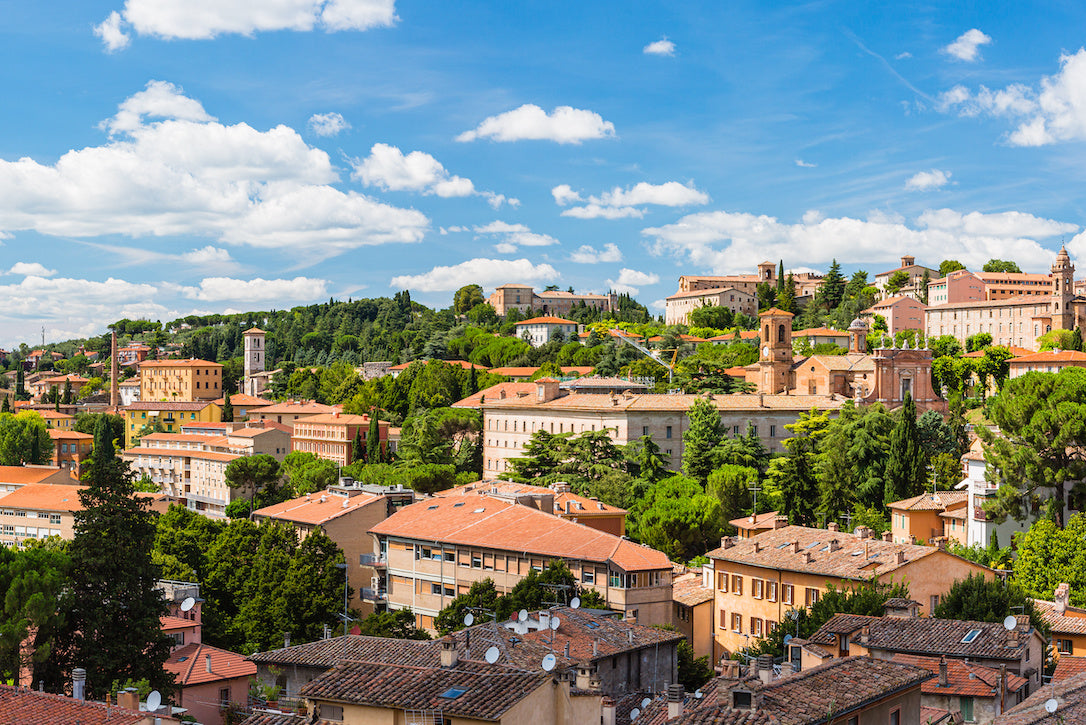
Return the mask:
<svg viewBox="0 0 1086 725">
<path fill-rule="evenodd" d="M 1012 145 L 1086 140 L 1086 49 L 1061 55 L 1060 71 L 1043 77 L 1037 87 L 1012 84 L 971 91 L 955 86 L 939 97 L 939 109 L 962 116 L 1014 119 L 1018 127 L 1007 137 Z"/>
</svg>

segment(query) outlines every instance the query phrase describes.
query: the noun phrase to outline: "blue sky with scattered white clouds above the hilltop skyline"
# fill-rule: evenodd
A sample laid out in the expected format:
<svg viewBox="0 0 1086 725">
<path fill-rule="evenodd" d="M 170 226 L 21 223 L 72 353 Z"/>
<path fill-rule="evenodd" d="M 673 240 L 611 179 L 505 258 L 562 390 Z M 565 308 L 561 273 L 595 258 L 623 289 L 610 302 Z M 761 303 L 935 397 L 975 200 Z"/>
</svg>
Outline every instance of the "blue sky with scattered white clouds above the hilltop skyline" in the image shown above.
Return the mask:
<svg viewBox="0 0 1086 725">
<path fill-rule="evenodd" d="M 1086 253 L 1082 3 L 0 0 L 0 345 Z"/>
</svg>

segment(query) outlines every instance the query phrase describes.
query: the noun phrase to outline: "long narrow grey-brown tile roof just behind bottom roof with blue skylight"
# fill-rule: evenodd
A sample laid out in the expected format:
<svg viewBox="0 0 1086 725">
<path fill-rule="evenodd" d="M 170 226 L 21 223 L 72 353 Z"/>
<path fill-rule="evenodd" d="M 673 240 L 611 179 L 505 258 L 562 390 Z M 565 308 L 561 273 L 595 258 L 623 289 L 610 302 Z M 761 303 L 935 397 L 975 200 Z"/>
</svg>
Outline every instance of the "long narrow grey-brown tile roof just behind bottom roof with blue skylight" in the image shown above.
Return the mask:
<svg viewBox="0 0 1086 725">
<path fill-rule="evenodd" d="M 416 639 L 348 635 L 256 652 L 250 654 L 249 659 L 261 664 L 321 670 L 328 670 L 341 662 L 389 662 L 434 666 L 441 662 L 441 650 L 433 645 L 432 641 Z"/>
</svg>

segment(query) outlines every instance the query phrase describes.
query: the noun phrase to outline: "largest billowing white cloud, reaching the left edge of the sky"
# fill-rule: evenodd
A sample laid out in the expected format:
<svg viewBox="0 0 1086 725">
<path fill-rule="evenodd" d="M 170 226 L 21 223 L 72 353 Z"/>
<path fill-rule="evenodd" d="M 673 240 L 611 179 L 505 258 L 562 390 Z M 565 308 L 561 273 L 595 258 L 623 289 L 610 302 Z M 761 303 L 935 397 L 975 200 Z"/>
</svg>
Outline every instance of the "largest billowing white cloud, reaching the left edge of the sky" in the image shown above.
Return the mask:
<svg viewBox="0 0 1086 725">
<path fill-rule="evenodd" d="M 364 245 L 418 242 L 429 229 L 417 211 L 336 189 L 328 154 L 294 129 L 224 125 L 172 84 L 152 80 L 103 128 L 108 142 L 52 164 L 0 160 L 0 233 L 203 237 L 298 247 L 316 263 Z"/>
</svg>

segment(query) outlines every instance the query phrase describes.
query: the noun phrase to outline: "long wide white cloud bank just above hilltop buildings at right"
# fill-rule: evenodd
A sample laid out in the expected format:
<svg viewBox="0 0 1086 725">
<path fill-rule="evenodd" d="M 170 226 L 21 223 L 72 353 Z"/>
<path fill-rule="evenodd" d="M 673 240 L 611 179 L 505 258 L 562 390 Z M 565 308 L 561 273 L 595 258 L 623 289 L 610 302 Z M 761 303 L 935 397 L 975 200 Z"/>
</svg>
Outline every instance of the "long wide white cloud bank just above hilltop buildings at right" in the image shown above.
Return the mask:
<svg viewBox="0 0 1086 725">
<path fill-rule="evenodd" d="M 911 224 L 879 214 L 859 219 L 808 213 L 801 221 L 786 224 L 765 215 L 705 212 L 642 233 L 653 240 L 653 253 L 716 274 L 750 270 L 763 259 L 776 258 L 788 259 L 794 268 L 825 268 L 836 258 L 863 259 L 873 277 L 883 265 L 896 266 L 905 252 L 929 266 L 954 258 L 980 268 L 998 258 L 1041 271 L 1053 253 L 1039 240 L 1075 231 L 1077 225 L 1022 212 L 963 214 L 942 208 L 929 209 Z"/>
</svg>

